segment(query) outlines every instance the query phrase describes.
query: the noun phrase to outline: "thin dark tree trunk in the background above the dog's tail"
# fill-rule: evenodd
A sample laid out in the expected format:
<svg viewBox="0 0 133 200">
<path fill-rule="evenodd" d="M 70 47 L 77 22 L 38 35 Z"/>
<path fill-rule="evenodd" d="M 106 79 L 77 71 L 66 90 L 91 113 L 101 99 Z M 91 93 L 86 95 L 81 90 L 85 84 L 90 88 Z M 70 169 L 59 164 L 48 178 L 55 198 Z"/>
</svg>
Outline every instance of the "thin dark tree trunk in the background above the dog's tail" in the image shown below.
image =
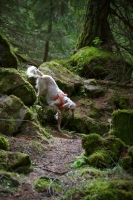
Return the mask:
<svg viewBox="0 0 133 200">
<path fill-rule="evenodd" d="M 50 10 L 50 14 L 49 14 L 48 34 L 47 34 L 47 38 L 45 42 L 43 62 L 46 62 L 48 60 L 48 54 L 49 54 L 50 34 L 52 32 L 52 21 L 53 21 L 53 0 L 50 0 L 49 10 Z"/>
</svg>

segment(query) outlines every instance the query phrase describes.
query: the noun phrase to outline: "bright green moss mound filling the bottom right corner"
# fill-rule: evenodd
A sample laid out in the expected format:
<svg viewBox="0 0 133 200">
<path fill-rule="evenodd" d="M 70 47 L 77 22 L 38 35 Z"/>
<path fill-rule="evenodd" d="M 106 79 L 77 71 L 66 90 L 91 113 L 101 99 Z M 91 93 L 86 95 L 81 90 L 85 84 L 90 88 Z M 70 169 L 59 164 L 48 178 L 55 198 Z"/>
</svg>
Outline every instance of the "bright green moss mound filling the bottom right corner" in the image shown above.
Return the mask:
<svg viewBox="0 0 133 200">
<path fill-rule="evenodd" d="M 99 180 L 92 181 L 86 188 L 84 200 L 131 200 L 133 198 L 133 181 L 126 180 Z"/>
</svg>

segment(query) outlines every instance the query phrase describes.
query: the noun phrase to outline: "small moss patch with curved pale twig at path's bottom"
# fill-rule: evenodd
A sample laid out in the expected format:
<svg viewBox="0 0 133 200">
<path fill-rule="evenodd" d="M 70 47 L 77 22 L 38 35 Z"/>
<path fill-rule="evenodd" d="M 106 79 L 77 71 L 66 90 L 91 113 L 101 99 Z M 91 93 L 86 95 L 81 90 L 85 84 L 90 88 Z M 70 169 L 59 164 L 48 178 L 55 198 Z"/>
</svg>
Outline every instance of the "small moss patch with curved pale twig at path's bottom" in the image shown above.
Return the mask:
<svg viewBox="0 0 133 200">
<path fill-rule="evenodd" d="M 38 192 L 46 192 L 48 195 L 56 195 L 62 190 L 59 181 L 57 181 L 56 179 L 52 180 L 49 178 L 37 179 L 34 183 L 34 188 Z"/>
</svg>

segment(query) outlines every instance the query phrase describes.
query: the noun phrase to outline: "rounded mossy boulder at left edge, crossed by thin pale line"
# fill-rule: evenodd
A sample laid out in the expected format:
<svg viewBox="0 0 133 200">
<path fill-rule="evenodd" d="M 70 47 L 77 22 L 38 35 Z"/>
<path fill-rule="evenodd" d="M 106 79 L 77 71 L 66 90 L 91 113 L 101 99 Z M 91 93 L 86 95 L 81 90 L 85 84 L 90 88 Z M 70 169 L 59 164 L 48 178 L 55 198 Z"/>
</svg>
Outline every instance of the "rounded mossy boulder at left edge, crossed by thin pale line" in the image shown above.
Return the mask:
<svg viewBox="0 0 133 200">
<path fill-rule="evenodd" d="M 14 135 L 25 121 L 31 120 L 28 107 L 14 95 L 0 97 L 0 132 Z"/>
</svg>

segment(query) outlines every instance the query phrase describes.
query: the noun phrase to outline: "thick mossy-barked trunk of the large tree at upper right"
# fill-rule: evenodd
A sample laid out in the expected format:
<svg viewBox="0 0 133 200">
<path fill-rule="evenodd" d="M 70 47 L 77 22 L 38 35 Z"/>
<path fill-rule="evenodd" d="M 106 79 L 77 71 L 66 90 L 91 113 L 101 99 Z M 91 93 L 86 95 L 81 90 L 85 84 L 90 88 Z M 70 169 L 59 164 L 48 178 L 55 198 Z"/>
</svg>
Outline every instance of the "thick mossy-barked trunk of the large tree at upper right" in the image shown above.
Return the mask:
<svg viewBox="0 0 133 200">
<path fill-rule="evenodd" d="M 76 49 L 85 46 L 94 46 L 93 40 L 98 37 L 106 50 L 111 50 L 114 43 L 109 23 L 108 14 L 111 0 L 89 0 L 83 31 L 78 38 Z"/>
</svg>

